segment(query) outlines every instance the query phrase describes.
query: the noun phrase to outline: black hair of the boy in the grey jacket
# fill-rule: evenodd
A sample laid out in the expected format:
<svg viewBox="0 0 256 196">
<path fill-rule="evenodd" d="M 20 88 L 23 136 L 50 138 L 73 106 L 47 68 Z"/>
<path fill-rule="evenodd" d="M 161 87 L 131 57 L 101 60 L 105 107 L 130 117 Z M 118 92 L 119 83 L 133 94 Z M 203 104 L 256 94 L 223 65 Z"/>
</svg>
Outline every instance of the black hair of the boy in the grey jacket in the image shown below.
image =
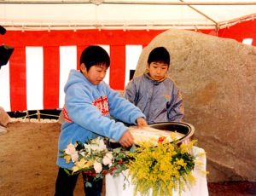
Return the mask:
<svg viewBox="0 0 256 196">
<path fill-rule="evenodd" d="M 165 47 L 154 48 L 148 55 L 148 65 L 152 62 L 163 62 L 170 65 L 170 54 Z"/>
</svg>

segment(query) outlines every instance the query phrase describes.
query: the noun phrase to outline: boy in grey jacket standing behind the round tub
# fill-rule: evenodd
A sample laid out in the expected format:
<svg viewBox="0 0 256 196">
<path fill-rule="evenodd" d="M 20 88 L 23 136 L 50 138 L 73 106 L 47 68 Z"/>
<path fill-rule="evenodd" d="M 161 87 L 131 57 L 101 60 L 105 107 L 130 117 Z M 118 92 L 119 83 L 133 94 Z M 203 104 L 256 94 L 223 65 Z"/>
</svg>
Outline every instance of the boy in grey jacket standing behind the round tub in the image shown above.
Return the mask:
<svg viewBox="0 0 256 196">
<path fill-rule="evenodd" d="M 148 55 L 147 71 L 125 88 L 125 98 L 142 110 L 148 124 L 183 119 L 182 96 L 172 79 L 166 77 L 169 66 L 169 52 L 157 47 Z"/>
</svg>

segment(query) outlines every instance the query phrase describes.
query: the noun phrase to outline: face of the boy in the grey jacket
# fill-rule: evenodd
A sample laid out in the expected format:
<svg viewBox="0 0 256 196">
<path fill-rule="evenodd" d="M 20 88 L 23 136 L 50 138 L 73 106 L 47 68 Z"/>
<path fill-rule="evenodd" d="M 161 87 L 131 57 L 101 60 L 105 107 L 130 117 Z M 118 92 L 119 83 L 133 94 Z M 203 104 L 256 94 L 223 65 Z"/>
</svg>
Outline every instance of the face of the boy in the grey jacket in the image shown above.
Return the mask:
<svg viewBox="0 0 256 196">
<path fill-rule="evenodd" d="M 169 65 L 163 62 L 151 62 L 147 65 L 147 68 L 150 77 L 156 81 L 160 81 L 166 77 Z"/>
</svg>

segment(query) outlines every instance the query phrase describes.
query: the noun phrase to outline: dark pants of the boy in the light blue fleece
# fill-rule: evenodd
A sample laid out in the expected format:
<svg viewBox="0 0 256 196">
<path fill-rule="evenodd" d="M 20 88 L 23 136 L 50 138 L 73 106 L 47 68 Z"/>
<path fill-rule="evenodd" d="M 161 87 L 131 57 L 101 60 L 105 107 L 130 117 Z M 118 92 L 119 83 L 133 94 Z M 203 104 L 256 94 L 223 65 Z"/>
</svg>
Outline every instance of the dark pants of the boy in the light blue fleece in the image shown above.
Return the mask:
<svg viewBox="0 0 256 196">
<path fill-rule="evenodd" d="M 55 183 L 55 196 L 73 196 L 73 191 L 78 181 L 79 174 L 68 176 L 63 168 L 59 168 Z M 102 180 L 93 181 L 93 177 L 83 174 L 84 193 L 86 196 L 101 196 Z M 90 182 L 92 187 L 86 187 L 85 183 Z"/>
</svg>

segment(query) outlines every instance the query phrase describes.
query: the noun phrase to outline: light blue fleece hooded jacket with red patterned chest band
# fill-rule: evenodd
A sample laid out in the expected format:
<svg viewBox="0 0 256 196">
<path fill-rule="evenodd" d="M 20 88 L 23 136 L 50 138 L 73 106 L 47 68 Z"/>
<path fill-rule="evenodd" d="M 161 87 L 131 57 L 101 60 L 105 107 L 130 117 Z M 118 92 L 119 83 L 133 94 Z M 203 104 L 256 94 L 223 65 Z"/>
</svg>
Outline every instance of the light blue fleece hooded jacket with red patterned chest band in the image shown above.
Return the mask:
<svg viewBox="0 0 256 196">
<path fill-rule="evenodd" d="M 100 135 L 119 141 L 128 128 L 113 118 L 127 124 L 136 124 L 137 118 L 145 118 L 139 108 L 110 89 L 108 84 L 104 82 L 99 85 L 91 84 L 77 70 L 69 73 L 64 91 L 65 122 L 61 126 L 59 150 L 65 149 L 70 142 L 85 142 Z M 60 153 L 57 164 L 67 169 L 73 166 L 72 163 L 66 164 L 65 159 L 60 158 Z"/>
</svg>

